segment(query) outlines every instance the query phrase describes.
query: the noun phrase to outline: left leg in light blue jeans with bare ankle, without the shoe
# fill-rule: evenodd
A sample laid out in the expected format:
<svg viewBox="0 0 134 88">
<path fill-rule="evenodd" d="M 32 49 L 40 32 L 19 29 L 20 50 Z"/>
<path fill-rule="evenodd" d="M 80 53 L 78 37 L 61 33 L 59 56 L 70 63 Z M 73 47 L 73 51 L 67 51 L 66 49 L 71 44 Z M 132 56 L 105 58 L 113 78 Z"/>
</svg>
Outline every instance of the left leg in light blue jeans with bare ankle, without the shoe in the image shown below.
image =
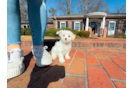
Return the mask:
<svg viewBox="0 0 134 88">
<path fill-rule="evenodd" d="M 7 50 L 20 49 L 19 0 L 7 0 Z"/>
</svg>

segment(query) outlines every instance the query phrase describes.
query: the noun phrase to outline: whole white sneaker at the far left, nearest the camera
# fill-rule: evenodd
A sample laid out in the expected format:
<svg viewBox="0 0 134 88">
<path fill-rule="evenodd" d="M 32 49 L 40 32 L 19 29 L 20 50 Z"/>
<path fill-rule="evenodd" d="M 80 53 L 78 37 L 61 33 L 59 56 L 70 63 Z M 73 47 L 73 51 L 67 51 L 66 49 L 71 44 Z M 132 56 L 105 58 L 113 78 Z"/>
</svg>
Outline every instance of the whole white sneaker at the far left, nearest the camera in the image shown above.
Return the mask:
<svg viewBox="0 0 134 88">
<path fill-rule="evenodd" d="M 25 70 L 23 51 L 11 49 L 7 51 L 7 79 L 19 76 Z"/>
</svg>

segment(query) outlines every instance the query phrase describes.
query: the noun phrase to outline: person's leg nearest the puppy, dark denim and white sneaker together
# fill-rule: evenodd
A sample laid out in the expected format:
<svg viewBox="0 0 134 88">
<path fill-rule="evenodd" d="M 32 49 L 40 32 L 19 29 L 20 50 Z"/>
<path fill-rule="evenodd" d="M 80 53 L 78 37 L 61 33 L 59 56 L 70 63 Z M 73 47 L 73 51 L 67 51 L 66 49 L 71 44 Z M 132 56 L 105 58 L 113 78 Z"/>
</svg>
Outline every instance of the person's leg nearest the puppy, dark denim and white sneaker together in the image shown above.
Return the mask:
<svg viewBox="0 0 134 88">
<path fill-rule="evenodd" d="M 52 63 L 51 55 L 44 47 L 44 35 L 47 25 L 46 0 L 27 0 L 30 30 L 33 40 L 33 55 L 36 65 L 43 67 Z"/>
</svg>

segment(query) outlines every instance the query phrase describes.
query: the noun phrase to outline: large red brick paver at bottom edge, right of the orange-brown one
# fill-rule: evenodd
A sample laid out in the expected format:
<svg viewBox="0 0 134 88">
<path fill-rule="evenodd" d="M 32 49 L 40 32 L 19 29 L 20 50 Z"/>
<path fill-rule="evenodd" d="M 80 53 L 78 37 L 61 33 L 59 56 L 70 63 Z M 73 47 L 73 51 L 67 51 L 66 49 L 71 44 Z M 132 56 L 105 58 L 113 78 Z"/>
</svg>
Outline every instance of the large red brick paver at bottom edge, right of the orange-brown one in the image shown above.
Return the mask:
<svg viewBox="0 0 134 88">
<path fill-rule="evenodd" d="M 89 88 L 114 88 L 101 67 L 87 67 Z"/>
</svg>

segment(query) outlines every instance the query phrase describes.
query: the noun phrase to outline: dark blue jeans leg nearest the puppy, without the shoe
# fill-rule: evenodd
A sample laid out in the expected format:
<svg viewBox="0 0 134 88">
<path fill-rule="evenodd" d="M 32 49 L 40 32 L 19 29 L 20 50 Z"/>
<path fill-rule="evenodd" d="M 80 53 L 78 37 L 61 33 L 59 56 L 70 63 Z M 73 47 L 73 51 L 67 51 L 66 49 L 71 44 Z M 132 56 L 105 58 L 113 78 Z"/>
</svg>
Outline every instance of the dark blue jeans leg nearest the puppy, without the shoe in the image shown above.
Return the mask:
<svg viewBox="0 0 134 88">
<path fill-rule="evenodd" d="M 46 2 L 44 0 L 28 0 L 28 16 L 33 46 L 43 46 L 47 24 Z"/>
</svg>

